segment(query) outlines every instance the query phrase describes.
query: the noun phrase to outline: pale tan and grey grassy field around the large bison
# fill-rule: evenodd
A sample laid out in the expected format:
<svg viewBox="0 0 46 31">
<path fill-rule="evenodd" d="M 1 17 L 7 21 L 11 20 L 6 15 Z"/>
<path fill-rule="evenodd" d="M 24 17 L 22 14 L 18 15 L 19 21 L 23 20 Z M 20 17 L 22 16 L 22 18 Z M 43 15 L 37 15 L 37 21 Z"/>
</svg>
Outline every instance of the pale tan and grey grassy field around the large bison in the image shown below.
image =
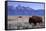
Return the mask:
<svg viewBox="0 0 46 31">
<path fill-rule="evenodd" d="M 8 20 L 8 28 L 7 29 L 15 29 L 15 30 L 21 30 L 21 29 L 36 29 L 36 28 L 44 28 L 44 17 L 43 23 L 39 24 L 37 23 L 36 26 L 34 24 L 29 24 L 29 17 L 31 16 L 22 16 L 22 18 L 19 18 L 18 16 L 15 17 L 8 17 L 8 19 L 13 19 L 11 21 Z"/>
</svg>

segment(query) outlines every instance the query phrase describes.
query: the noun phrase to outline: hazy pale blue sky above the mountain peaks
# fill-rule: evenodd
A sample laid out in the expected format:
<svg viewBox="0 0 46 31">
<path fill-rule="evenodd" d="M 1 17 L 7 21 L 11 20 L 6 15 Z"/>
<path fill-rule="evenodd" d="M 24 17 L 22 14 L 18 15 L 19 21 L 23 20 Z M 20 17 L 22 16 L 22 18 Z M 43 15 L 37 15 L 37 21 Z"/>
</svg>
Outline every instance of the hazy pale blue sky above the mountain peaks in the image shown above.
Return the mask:
<svg viewBox="0 0 46 31">
<path fill-rule="evenodd" d="M 30 7 L 35 10 L 44 9 L 44 4 L 39 4 L 39 3 L 8 2 L 8 6 L 13 6 L 13 8 L 15 8 L 17 5 Z"/>
</svg>

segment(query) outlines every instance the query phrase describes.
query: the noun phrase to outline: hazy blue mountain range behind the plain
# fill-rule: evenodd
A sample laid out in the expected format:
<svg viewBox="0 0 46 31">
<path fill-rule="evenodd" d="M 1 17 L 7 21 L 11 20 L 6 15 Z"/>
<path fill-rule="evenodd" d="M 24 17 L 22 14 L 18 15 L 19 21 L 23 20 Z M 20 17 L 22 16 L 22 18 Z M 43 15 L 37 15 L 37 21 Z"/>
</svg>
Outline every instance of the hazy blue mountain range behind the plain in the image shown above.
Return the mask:
<svg viewBox="0 0 46 31">
<path fill-rule="evenodd" d="M 34 10 L 30 7 L 24 7 L 24 6 L 16 6 L 14 8 L 12 6 L 8 6 L 8 15 L 10 16 L 12 15 L 44 16 L 44 13 L 45 13 L 45 10 L 43 9 Z"/>
</svg>

